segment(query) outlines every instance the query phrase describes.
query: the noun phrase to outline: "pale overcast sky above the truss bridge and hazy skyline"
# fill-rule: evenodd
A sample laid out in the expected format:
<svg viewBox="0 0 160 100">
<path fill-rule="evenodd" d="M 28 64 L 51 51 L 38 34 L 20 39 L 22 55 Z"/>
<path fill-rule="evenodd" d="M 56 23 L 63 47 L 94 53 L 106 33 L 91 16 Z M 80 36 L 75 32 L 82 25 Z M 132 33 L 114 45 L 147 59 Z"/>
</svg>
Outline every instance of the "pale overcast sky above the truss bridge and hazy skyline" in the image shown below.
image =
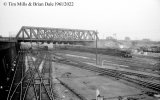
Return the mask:
<svg viewBox="0 0 160 100">
<path fill-rule="evenodd" d="M 11 7 L 0 0 L 0 34 L 17 34 L 21 26 L 97 30 L 100 38 L 149 38 L 160 41 L 160 0 L 24 0 L 74 2 L 73 7 Z M 19 0 L 22 1 L 22 0 Z"/>
</svg>

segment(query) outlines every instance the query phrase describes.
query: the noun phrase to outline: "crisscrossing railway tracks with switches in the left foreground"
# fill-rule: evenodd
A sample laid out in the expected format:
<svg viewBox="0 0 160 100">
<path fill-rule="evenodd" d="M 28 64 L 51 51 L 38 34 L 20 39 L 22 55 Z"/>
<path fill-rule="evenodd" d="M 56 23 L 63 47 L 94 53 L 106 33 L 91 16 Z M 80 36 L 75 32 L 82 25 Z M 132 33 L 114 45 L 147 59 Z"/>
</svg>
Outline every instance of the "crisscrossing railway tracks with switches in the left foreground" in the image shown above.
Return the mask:
<svg viewBox="0 0 160 100">
<path fill-rule="evenodd" d="M 51 66 L 48 66 L 48 68 L 43 67 L 43 71 L 40 72 L 38 67 L 41 65 L 42 59 L 37 59 L 34 62 L 33 58 L 29 55 L 27 55 L 27 59 L 29 69 L 23 73 L 23 68 L 25 68 L 24 55 L 20 55 L 19 57 L 14 74 L 15 77 L 13 78 L 7 100 L 54 100 L 56 96 L 52 88 Z M 17 73 L 19 72 L 18 68 L 22 69 L 21 74 L 23 74 L 20 80 L 16 80 Z M 49 72 L 46 72 L 46 70 L 49 70 Z"/>
</svg>

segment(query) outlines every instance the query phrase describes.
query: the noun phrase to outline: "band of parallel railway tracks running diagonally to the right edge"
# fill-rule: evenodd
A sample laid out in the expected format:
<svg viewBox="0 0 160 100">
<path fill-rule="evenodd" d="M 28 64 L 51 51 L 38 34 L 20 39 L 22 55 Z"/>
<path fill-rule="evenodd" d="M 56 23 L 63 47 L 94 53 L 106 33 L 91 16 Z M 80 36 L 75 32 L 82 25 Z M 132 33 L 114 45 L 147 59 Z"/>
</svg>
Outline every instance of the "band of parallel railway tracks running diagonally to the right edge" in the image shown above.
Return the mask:
<svg viewBox="0 0 160 100">
<path fill-rule="evenodd" d="M 69 65 L 73 65 L 73 66 L 76 66 L 76 67 L 79 67 L 79 68 L 82 68 L 82 69 L 97 72 L 97 73 L 99 73 L 99 75 L 102 75 L 102 76 L 111 76 L 111 77 L 115 77 L 115 78 L 118 78 L 118 79 L 122 79 L 122 80 L 140 85 L 144 88 L 148 88 L 148 89 L 151 89 L 153 91 L 156 91 L 156 92 L 160 93 L 160 84 L 159 83 L 149 82 L 149 81 L 140 80 L 140 79 L 125 76 L 125 74 L 127 74 L 127 75 L 135 75 L 135 76 L 138 76 L 138 77 L 147 77 L 148 78 L 148 77 L 150 77 L 148 75 L 125 72 L 125 71 L 118 71 L 118 70 L 112 70 L 112 69 L 98 68 L 94 65 L 89 65 L 89 64 L 71 59 L 71 58 L 66 58 L 62 55 L 56 55 L 55 54 L 55 57 L 57 57 L 57 62 L 59 62 L 59 63 L 69 64 Z M 155 77 L 155 78 L 157 79 L 157 77 Z"/>
</svg>

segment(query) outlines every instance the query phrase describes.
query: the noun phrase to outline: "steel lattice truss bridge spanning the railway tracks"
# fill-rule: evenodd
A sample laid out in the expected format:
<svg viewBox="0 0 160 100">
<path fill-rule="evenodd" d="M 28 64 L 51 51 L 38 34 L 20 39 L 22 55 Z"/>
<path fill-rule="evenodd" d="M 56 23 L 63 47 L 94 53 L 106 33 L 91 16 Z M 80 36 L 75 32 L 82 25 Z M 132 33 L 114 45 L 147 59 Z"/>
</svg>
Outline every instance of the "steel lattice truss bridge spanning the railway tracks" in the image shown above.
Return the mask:
<svg viewBox="0 0 160 100">
<path fill-rule="evenodd" d="M 18 42 L 80 43 L 99 38 L 94 30 L 22 26 L 16 39 Z"/>
</svg>

